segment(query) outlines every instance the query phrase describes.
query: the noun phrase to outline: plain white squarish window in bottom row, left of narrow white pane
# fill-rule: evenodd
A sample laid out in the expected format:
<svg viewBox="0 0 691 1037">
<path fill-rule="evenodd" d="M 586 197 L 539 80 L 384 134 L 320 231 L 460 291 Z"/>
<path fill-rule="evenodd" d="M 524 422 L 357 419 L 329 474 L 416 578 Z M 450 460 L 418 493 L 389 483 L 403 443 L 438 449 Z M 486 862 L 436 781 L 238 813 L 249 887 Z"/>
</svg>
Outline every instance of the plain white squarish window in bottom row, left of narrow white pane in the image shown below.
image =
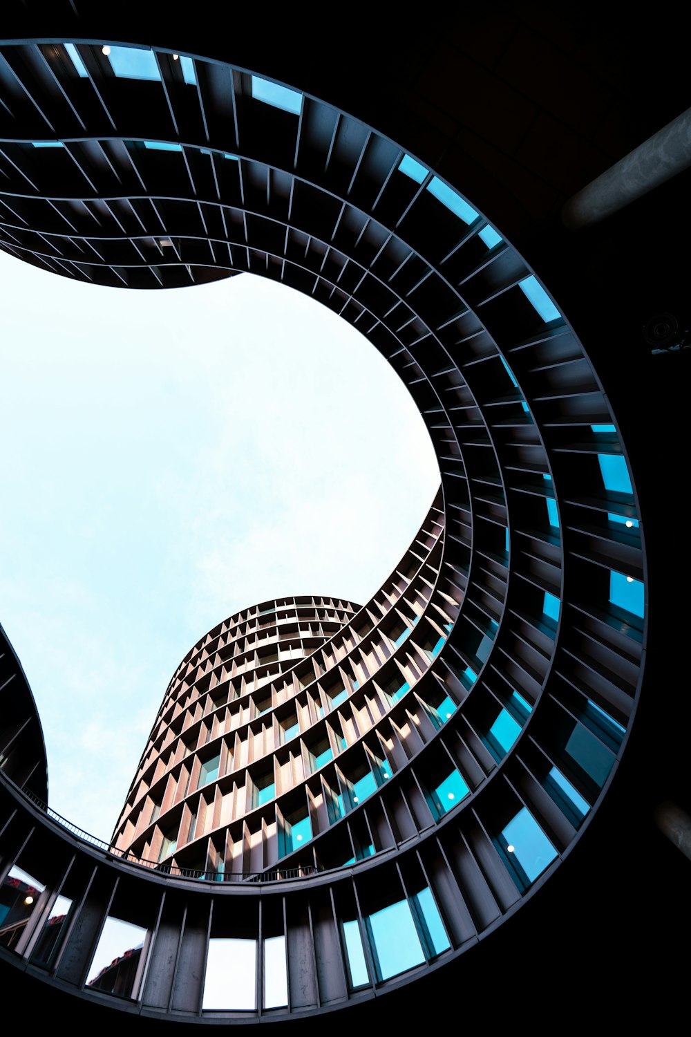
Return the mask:
<svg viewBox="0 0 691 1037">
<path fill-rule="evenodd" d="M 254 1009 L 256 986 L 256 940 L 209 940 L 202 1009 Z"/>
</svg>

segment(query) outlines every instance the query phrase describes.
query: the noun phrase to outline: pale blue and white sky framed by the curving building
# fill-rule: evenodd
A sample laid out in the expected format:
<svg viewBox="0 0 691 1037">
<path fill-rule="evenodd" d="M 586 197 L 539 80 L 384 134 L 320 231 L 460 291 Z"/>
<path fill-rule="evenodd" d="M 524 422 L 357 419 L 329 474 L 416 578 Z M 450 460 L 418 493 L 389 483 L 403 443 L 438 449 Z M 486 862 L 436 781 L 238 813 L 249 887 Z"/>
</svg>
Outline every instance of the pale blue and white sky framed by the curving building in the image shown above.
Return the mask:
<svg viewBox="0 0 691 1037">
<path fill-rule="evenodd" d="M 188 650 L 267 598 L 366 602 L 438 467 L 386 362 L 284 285 L 105 288 L 1 251 L 0 285 L 0 622 L 50 805 L 108 840 Z"/>
</svg>

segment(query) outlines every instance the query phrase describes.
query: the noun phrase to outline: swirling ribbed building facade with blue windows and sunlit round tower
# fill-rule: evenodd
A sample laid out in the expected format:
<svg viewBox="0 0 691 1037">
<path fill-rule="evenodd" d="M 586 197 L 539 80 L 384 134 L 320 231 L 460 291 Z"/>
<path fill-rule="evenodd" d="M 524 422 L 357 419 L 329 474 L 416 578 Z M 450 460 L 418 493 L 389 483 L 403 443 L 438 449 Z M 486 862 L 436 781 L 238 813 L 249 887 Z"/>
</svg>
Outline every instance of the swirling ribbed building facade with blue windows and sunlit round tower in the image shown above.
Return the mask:
<svg viewBox="0 0 691 1037">
<path fill-rule="evenodd" d="M 647 561 L 581 342 L 601 328 L 565 286 L 562 231 L 528 229 L 548 235 L 544 198 L 466 148 L 430 69 L 415 92 L 384 62 L 401 81 L 372 68 L 383 93 L 348 93 L 345 47 L 325 68 L 250 35 L 157 40 L 124 9 L 35 10 L 0 43 L 1 247 L 99 284 L 249 271 L 313 296 L 408 387 L 441 487 L 364 608 L 276 599 L 191 650 L 110 849 L 0 774 L 0 877 L 38 891 L 0 957 L 147 1020 L 306 1020 L 384 993 L 403 1019 L 411 981 L 462 976 L 537 891 L 568 900 L 625 765 Z M 118 925 L 128 946 L 100 963 Z"/>
</svg>

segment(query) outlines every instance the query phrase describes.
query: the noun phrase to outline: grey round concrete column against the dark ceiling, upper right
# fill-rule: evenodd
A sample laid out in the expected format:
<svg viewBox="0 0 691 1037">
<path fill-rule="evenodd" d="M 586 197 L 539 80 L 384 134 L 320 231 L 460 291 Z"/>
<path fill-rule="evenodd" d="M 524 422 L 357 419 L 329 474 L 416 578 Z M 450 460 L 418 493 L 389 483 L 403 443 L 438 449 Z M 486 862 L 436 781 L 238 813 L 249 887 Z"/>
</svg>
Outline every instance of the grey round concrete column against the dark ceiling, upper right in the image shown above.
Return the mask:
<svg viewBox="0 0 691 1037">
<path fill-rule="evenodd" d="M 598 223 L 691 165 L 691 108 L 621 159 L 562 209 L 567 227 Z"/>
</svg>

